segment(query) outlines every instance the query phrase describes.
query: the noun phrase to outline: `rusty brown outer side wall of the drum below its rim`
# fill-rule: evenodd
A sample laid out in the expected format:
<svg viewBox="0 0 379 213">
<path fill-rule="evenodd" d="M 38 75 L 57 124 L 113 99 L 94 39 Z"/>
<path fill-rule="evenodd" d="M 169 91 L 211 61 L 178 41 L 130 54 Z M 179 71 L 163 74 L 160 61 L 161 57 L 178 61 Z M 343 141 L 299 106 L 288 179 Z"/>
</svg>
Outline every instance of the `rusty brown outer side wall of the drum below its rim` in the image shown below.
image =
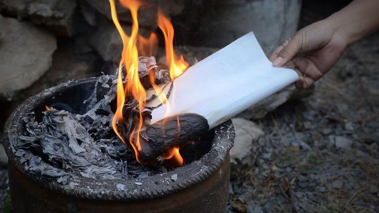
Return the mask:
<svg viewBox="0 0 379 213">
<path fill-rule="evenodd" d="M 15 212 L 225 212 L 229 192 L 229 155 L 205 180 L 155 199 L 95 200 L 49 190 L 9 165 L 9 185 Z"/>
</svg>

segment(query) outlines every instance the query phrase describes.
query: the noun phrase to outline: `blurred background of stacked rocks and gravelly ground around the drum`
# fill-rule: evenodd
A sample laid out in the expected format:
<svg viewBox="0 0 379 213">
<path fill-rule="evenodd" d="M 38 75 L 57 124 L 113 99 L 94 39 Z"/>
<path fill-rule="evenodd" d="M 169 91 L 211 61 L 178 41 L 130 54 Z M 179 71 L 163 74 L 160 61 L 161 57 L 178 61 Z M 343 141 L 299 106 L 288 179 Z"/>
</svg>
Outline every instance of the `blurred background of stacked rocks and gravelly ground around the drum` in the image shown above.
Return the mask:
<svg viewBox="0 0 379 213">
<path fill-rule="evenodd" d="M 139 33 L 164 40 L 189 63 L 254 31 L 266 55 L 349 0 L 148 0 Z M 116 1 L 117 3 L 117 1 Z M 117 5 L 127 33 L 130 12 Z M 28 97 L 69 80 L 114 74 L 122 41 L 107 0 L 0 0 L 0 211 L 9 205 L 2 129 Z M 287 88 L 238 115 L 229 212 L 379 211 L 379 34 L 344 53 L 316 86 Z M 238 145 L 239 144 L 239 145 Z M 247 151 L 246 151 L 247 150 Z M 3 204 L 3 205 L 2 205 Z"/>
</svg>

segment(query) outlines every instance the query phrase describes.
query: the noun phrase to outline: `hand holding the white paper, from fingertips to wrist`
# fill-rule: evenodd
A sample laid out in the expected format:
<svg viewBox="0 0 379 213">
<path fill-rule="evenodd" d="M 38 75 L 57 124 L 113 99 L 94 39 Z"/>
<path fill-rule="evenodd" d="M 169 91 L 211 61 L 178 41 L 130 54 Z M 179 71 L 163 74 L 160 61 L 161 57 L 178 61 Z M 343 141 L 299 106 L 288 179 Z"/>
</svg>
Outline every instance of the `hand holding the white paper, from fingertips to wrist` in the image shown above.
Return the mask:
<svg viewBox="0 0 379 213">
<path fill-rule="evenodd" d="M 274 66 L 294 69 L 299 89 L 313 85 L 337 63 L 348 43 L 327 19 L 313 23 L 280 45 L 271 55 Z"/>
</svg>

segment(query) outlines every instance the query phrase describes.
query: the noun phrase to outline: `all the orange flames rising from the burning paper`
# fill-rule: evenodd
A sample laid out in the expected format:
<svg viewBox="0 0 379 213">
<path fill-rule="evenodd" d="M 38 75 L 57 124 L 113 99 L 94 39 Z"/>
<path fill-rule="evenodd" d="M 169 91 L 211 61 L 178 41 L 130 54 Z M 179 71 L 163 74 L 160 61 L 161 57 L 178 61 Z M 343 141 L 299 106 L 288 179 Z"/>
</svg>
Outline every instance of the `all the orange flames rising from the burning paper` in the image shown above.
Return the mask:
<svg viewBox="0 0 379 213">
<path fill-rule="evenodd" d="M 143 117 L 142 112 L 145 108 L 146 103 L 146 91 L 139 80 L 138 73 L 138 56 L 154 56 L 157 52 L 158 46 L 158 38 L 155 33 L 151 33 L 149 38 L 144 38 L 143 36 L 138 34 L 138 8 L 143 6 L 143 3 L 138 0 L 120 0 L 121 5 L 128 8 L 130 13 L 132 14 L 133 25 L 132 25 L 132 33 L 129 36 L 125 34 L 122 29 L 119 20 L 117 18 L 116 6 L 114 0 L 109 0 L 111 6 L 111 15 L 114 25 L 119 32 L 123 49 L 121 55 L 121 61 L 118 67 L 117 74 L 117 110 L 114 113 L 112 119 L 112 127 L 116 135 L 126 144 L 124 136 L 122 136 L 117 129 L 117 124 L 124 122 L 124 117 L 122 115 L 122 110 L 125 103 L 125 96 L 133 96 L 133 98 L 138 101 L 139 107 L 139 119 L 138 124 L 132 131 L 132 134 L 129 139 L 129 143 L 132 145 L 135 153 L 136 159 L 140 162 L 139 151 L 141 151 L 140 145 L 140 134 L 141 128 L 143 126 Z M 173 80 L 174 78 L 181 75 L 187 68 L 188 63 L 186 63 L 183 59 L 183 56 L 177 58 L 174 55 L 172 40 L 174 38 L 174 28 L 172 27 L 171 22 L 165 17 L 160 10 L 158 10 L 158 26 L 161 28 L 164 34 L 164 41 L 166 43 L 166 58 L 167 64 L 170 70 L 170 77 Z M 122 73 L 122 68 L 124 68 L 124 73 Z M 126 83 L 122 81 L 123 77 L 127 80 Z M 162 89 L 160 89 L 154 82 L 155 78 L 153 74 L 149 75 L 150 83 L 152 87 L 155 89 L 158 94 L 158 98 L 161 103 L 167 104 L 166 108 L 169 112 L 168 100 Z M 180 125 L 179 125 L 179 117 L 178 117 L 178 130 L 180 133 Z M 136 138 L 133 138 L 136 137 Z M 136 141 L 136 143 L 133 143 Z M 174 147 L 172 150 L 169 150 L 166 153 L 166 159 L 172 159 L 178 166 L 182 166 L 183 158 L 180 156 L 179 147 Z"/>
</svg>

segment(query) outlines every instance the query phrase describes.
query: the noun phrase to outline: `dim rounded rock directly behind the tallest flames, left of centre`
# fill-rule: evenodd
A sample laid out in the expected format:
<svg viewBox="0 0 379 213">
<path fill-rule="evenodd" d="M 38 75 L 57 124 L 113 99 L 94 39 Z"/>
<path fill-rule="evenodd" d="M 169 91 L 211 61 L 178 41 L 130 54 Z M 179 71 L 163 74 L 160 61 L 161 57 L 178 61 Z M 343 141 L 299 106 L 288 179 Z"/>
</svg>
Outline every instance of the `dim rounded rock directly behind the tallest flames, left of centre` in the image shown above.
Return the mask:
<svg viewBox="0 0 379 213">
<path fill-rule="evenodd" d="M 118 63 L 121 59 L 123 44 L 117 28 L 108 19 L 100 19 L 97 25 L 97 30 L 89 36 L 89 44 L 99 53 L 104 61 Z M 122 25 L 122 28 L 130 36 L 132 27 Z M 150 31 L 139 27 L 138 33 L 148 37 Z"/>
</svg>

